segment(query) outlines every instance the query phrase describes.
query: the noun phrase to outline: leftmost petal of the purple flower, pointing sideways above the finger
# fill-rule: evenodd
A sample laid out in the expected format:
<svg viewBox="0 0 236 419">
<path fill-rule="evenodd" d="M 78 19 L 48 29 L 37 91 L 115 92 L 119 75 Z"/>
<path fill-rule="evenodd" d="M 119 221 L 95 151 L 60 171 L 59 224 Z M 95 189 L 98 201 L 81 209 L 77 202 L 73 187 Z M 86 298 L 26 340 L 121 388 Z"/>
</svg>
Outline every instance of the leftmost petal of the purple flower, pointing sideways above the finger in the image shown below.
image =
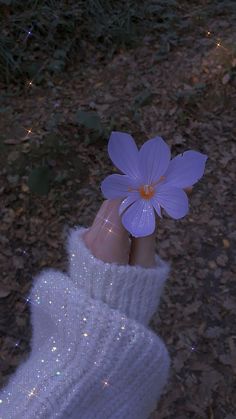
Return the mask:
<svg viewBox="0 0 236 419">
<path fill-rule="evenodd" d="M 101 191 L 106 199 L 125 198 L 129 195 L 129 188 L 137 188 L 138 184 L 128 175 L 113 174 L 101 182 Z"/>
</svg>

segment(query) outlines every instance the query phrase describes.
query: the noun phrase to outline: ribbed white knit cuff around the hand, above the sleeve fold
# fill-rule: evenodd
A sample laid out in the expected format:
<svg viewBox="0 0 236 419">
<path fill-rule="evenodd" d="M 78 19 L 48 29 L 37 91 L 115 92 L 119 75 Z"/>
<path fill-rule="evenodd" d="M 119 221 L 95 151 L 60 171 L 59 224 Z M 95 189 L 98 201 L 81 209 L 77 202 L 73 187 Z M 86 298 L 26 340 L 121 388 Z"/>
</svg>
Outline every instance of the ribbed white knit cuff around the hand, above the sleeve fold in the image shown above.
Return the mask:
<svg viewBox="0 0 236 419">
<path fill-rule="evenodd" d="M 154 268 L 103 262 L 86 247 L 82 237 L 86 231 L 84 227 L 69 231 L 66 247 L 70 278 L 90 297 L 147 325 L 158 308 L 169 263 L 157 254 Z"/>
</svg>

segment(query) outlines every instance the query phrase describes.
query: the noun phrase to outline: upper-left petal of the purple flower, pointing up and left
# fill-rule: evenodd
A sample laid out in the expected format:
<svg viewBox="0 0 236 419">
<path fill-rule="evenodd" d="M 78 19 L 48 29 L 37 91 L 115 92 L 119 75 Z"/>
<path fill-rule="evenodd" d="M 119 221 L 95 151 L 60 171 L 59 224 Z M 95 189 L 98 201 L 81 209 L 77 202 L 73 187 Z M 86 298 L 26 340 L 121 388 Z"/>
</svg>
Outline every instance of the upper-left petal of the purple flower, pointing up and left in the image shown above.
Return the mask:
<svg viewBox="0 0 236 419">
<path fill-rule="evenodd" d="M 140 177 L 138 148 L 131 135 L 113 131 L 108 142 L 108 154 L 121 172 L 134 178 Z"/>
</svg>

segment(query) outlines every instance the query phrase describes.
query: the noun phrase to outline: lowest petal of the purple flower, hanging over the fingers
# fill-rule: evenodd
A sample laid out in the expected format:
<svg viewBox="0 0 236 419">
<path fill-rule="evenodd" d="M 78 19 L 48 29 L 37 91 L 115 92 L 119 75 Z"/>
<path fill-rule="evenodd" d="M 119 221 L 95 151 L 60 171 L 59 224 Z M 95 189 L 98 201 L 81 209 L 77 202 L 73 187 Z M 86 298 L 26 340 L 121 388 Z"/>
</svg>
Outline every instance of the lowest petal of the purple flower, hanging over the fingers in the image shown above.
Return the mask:
<svg viewBox="0 0 236 419">
<path fill-rule="evenodd" d="M 134 202 L 121 218 L 123 226 L 134 237 L 145 237 L 155 230 L 155 214 L 152 205 L 146 199 Z"/>
</svg>

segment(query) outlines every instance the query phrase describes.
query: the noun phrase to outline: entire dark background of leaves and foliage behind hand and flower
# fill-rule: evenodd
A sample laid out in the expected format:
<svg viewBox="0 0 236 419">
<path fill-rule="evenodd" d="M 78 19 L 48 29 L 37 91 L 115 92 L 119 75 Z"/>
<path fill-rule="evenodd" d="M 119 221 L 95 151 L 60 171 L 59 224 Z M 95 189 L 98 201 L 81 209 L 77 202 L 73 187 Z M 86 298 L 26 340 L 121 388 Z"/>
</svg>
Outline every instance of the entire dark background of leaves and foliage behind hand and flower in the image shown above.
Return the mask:
<svg viewBox="0 0 236 419">
<path fill-rule="evenodd" d="M 159 135 L 208 160 L 189 214 L 159 220 L 150 327 L 172 365 L 150 419 L 236 418 L 235 27 L 235 0 L 0 0 L 1 387 L 30 351 L 34 275 L 66 271 L 68 229 L 117 173 L 111 131 Z"/>
</svg>

